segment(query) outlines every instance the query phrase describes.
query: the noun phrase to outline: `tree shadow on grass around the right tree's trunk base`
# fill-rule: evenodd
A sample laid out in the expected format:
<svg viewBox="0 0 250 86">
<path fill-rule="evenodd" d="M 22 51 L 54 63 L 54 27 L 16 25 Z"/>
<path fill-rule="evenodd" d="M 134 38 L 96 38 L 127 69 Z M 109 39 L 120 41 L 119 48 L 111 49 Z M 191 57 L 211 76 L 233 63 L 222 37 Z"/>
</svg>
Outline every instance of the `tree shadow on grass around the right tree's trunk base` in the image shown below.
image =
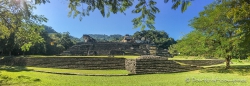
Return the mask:
<svg viewBox="0 0 250 86">
<path fill-rule="evenodd" d="M 229 69 L 225 66 L 208 67 L 200 70 L 201 73 L 235 73 L 242 76 L 250 75 L 250 65 L 232 65 Z"/>
</svg>

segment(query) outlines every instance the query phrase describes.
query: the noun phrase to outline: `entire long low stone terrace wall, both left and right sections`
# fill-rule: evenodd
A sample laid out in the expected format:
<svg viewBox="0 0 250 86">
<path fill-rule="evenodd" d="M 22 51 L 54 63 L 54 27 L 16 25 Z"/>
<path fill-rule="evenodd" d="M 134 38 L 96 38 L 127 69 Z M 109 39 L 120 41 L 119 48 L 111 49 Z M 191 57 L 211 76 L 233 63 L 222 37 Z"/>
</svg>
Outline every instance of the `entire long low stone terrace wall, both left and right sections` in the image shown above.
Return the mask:
<svg viewBox="0 0 250 86">
<path fill-rule="evenodd" d="M 168 60 L 166 57 L 143 55 L 137 59 L 102 57 L 35 57 L 0 59 L 0 65 L 66 68 L 84 70 L 127 70 L 130 74 L 183 72 L 215 65 L 224 60 Z M 188 65 L 180 65 L 185 63 Z"/>
</svg>

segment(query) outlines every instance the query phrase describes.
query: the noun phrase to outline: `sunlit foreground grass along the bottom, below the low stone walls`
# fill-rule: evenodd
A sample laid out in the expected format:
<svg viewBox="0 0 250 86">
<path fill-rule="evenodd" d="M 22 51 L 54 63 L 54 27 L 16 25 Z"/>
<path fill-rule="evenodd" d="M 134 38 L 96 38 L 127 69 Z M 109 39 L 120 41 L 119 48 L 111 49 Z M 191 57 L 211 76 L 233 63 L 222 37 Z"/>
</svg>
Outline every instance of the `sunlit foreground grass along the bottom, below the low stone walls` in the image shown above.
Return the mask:
<svg viewBox="0 0 250 86">
<path fill-rule="evenodd" d="M 1 74 L 9 76 L 11 79 L 8 83 L 13 86 L 249 86 L 250 84 L 249 76 L 230 73 L 201 73 L 199 71 L 133 76 L 77 76 L 33 71 L 2 71 Z M 19 79 L 20 76 L 24 78 Z M 242 80 L 243 82 L 225 82 L 223 80 Z"/>
</svg>

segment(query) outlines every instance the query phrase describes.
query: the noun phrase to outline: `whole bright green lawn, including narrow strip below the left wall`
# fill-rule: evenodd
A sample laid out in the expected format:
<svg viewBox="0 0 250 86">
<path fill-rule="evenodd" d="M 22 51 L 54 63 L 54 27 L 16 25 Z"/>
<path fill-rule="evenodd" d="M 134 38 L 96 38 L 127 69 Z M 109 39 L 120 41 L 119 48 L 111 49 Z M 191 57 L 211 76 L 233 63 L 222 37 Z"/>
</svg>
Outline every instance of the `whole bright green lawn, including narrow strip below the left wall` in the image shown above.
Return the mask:
<svg viewBox="0 0 250 86">
<path fill-rule="evenodd" d="M 72 72 L 83 74 L 121 74 L 124 70 L 70 70 L 27 67 L 29 70 Z M 131 76 L 79 76 L 60 75 L 28 70 L 1 70 L 2 85 L 11 86 L 249 86 L 250 65 L 233 64 L 231 69 L 224 66 L 166 74 Z"/>
</svg>

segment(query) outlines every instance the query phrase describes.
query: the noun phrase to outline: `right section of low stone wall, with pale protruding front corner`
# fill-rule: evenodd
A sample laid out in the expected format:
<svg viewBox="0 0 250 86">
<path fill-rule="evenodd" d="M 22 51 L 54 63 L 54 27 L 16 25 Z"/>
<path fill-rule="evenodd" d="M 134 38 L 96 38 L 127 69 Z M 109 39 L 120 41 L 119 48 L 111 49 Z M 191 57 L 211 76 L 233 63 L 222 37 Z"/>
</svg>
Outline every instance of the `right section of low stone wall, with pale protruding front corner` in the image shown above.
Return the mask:
<svg viewBox="0 0 250 86">
<path fill-rule="evenodd" d="M 155 74 L 185 72 L 200 69 L 200 66 L 215 65 L 224 60 L 168 60 L 166 57 L 143 55 L 137 59 L 126 59 L 125 67 L 130 74 Z M 180 65 L 179 63 L 186 63 Z"/>
</svg>

